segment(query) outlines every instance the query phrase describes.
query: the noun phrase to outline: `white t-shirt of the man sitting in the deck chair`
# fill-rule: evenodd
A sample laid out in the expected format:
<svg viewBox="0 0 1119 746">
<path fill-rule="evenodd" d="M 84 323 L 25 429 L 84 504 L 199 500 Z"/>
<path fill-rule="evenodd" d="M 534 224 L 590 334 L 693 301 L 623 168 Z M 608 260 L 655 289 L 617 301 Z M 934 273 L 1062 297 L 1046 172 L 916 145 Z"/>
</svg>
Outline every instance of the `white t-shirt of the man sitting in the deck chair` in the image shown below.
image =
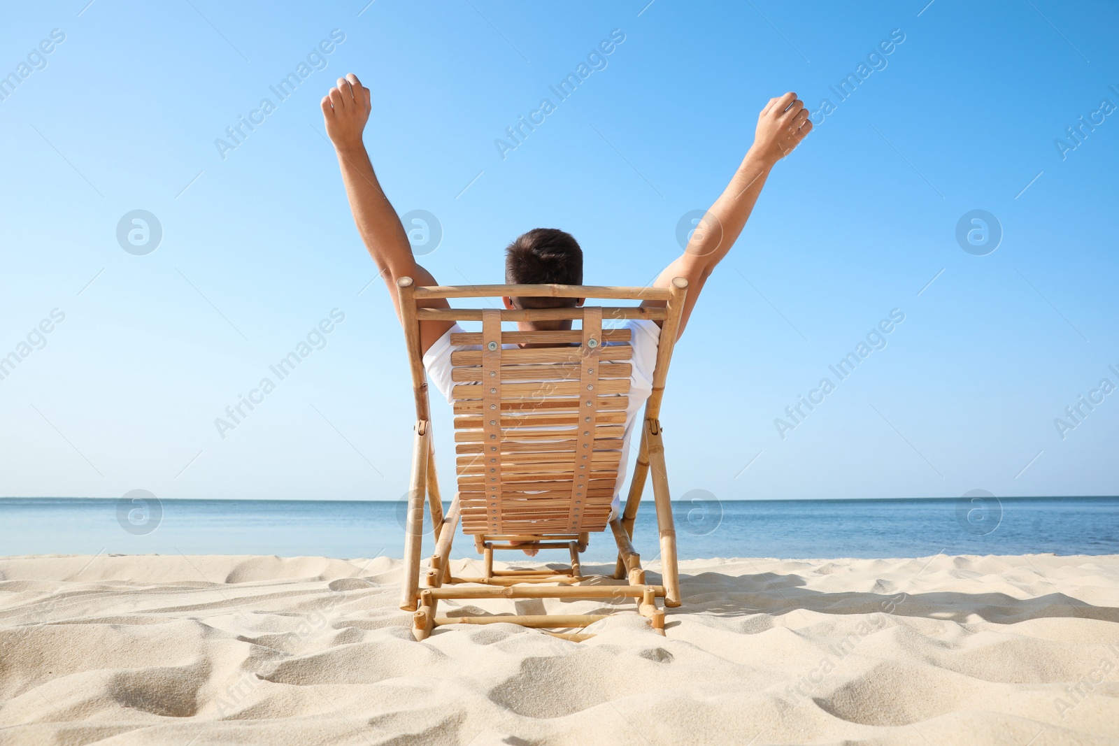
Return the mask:
<svg viewBox="0 0 1119 746">
<path fill-rule="evenodd" d="M 621 328 L 630 330 L 630 346 L 632 347 L 633 358 L 630 360 L 632 372 L 630 374 L 629 404 L 626 407 L 626 434 L 622 441 L 621 462 L 618 464 L 618 484 L 614 487 L 614 499 L 610 507 L 611 518 L 618 516 L 621 504 L 621 488 L 624 481 L 622 475 L 626 473 L 626 466 L 629 463 L 629 447 L 634 423 L 638 421 L 638 414 L 645 407 L 646 399 L 652 393 L 652 371 L 657 367 L 657 343 L 660 341 L 660 327 L 653 321 L 633 319 L 627 321 Z M 423 356 L 423 366 L 427 369 L 431 383 L 435 385 L 440 394 L 446 397 L 448 404 L 452 403 L 451 387 L 454 386 L 454 383 L 451 380 L 451 352 L 481 349 L 478 344 L 451 344 L 451 334 L 461 331 L 463 329 L 459 324 L 454 324 Z M 606 344 L 614 343 L 617 342 L 606 342 Z M 506 344 L 505 349 L 513 347 L 516 346 Z M 638 440 L 638 444 L 640 444 L 640 438 Z"/>
</svg>

